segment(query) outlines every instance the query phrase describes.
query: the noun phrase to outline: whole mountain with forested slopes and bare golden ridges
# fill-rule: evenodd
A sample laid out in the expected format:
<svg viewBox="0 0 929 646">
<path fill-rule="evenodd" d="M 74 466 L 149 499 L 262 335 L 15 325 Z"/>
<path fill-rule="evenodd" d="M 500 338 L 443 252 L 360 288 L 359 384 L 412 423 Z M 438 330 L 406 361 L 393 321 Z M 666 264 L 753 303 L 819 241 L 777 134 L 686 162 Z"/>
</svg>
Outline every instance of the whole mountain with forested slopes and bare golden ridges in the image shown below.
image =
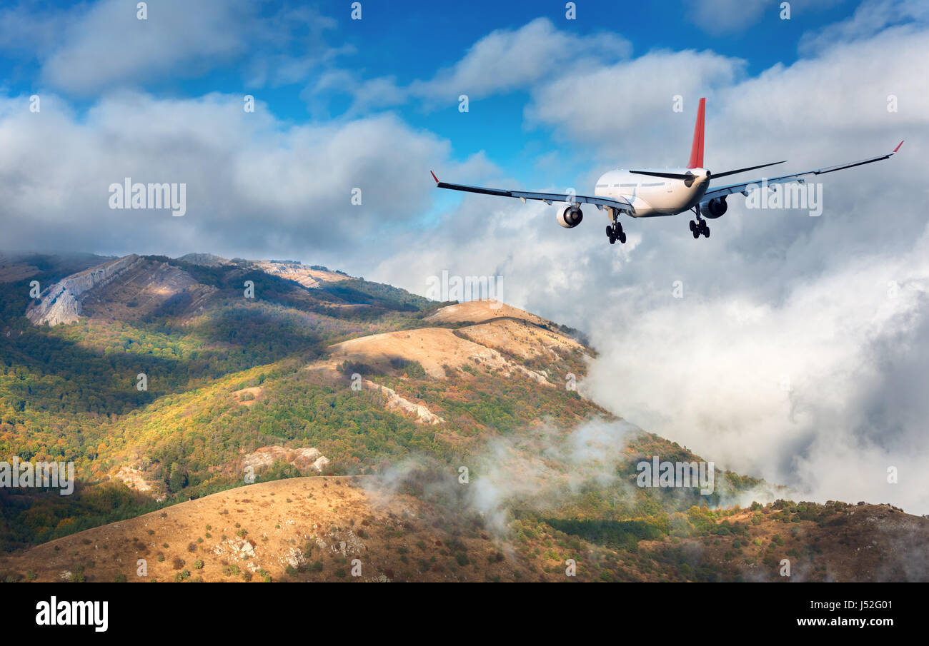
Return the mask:
<svg viewBox="0 0 929 646">
<path fill-rule="evenodd" d="M 510 305 L 205 253 L 3 277 L 0 455 L 77 476 L 0 487 L 10 580 L 135 580 L 139 554 L 159 580 L 337 580 L 352 549 L 390 580 L 926 578 L 902 511 L 718 466 L 703 493 L 643 481 L 707 462 L 584 397 L 582 333 Z"/>
</svg>

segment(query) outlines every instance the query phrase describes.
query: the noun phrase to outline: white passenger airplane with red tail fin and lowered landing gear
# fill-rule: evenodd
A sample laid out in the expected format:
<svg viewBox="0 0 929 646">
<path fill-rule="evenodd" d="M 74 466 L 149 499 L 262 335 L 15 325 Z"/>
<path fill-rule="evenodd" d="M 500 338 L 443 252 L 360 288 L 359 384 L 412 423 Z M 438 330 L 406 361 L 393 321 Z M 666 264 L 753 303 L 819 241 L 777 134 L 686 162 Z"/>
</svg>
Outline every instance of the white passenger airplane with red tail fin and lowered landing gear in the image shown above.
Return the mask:
<svg viewBox="0 0 929 646">
<path fill-rule="evenodd" d="M 725 187 L 710 188 L 710 179 L 719 179 L 727 175 L 753 171 L 756 168 L 765 168 L 775 164 L 784 163 L 784 161 L 772 161 L 763 163 L 758 166 L 749 166 L 748 168 L 739 168 L 736 171 L 726 171 L 725 173 L 711 174 L 709 170 L 703 167 L 703 115 L 706 106 L 706 99 L 700 99 L 700 107 L 697 110 L 697 123 L 694 125 L 694 140 L 690 148 L 690 161 L 687 168 L 672 169 L 646 169 L 641 171 L 609 171 L 596 181 L 593 196 L 587 195 L 570 195 L 560 193 L 533 193 L 522 190 L 504 190 L 502 188 L 486 187 L 467 187 L 461 184 L 448 184 L 439 182 L 438 177 L 432 171 L 432 178 L 436 180 L 439 188 L 451 188 L 453 190 L 464 190 L 470 193 L 484 193 L 486 195 L 498 195 L 504 198 L 519 198 L 526 203 L 526 200 L 543 200 L 546 204 L 553 201 L 567 202 L 564 206 L 559 206 L 556 213 L 558 224 L 566 228 L 572 228 L 581 224 L 583 213 L 580 204 L 594 204 L 600 211 L 606 210 L 611 225 L 607 226 L 607 238 L 609 243 L 613 244 L 616 240 L 624 243 L 626 234 L 622 230 L 620 223 L 620 213 L 626 213 L 632 217 L 656 217 L 659 215 L 677 215 L 686 211 L 692 211 L 696 215 L 696 220 L 690 221 L 690 231 L 694 238 L 710 237 L 710 227 L 706 225 L 704 217 L 714 219 L 726 213 L 728 206 L 726 198 L 733 193 L 741 193 L 748 196 L 748 188 L 754 184 L 759 185 L 762 179 L 753 179 L 749 182 L 739 184 L 730 184 Z M 871 163 L 872 161 L 881 161 L 888 159 L 900 146 L 901 141 L 894 152 L 889 152 L 878 157 L 871 157 L 867 160 L 851 161 L 849 163 L 839 164 L 837 166 L 827 166 L 818 168 L 813 171 L 804 171 L 803 173 L 794 173 L 780 175 L 779 177 L 766 177 L 766 183 L 783 184 L 788 182 L 805 183 L 804 175 L 824 174 L 833 171 L 841 171 L 844 168 L 852 168 L 861 164 Z M 656 178 L 661 181 L 647 181 L 649 178 Z"/>
</svg>

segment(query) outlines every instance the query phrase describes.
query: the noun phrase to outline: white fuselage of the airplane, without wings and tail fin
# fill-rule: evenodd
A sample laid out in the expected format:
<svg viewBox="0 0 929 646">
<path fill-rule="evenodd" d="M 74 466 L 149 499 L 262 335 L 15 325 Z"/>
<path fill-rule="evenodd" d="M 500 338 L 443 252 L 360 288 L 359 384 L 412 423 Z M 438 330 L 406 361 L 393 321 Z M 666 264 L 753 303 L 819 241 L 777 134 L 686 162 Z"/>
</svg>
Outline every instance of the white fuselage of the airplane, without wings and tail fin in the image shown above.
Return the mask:
<svg viewBox="0 0 929 646">
<path fill-rule="evenodd" d="M 635 208 L 635 213 L 629 213 L 633 217 L 657 217 L 692 209 L 710 184 L 710 173 L 705 168 L 661 168 L 654 172 L 692 174 L 693 178 L 681 180 L 609 171 L 596 180 L 594 195 L 629 200 Z"/>
</svg>

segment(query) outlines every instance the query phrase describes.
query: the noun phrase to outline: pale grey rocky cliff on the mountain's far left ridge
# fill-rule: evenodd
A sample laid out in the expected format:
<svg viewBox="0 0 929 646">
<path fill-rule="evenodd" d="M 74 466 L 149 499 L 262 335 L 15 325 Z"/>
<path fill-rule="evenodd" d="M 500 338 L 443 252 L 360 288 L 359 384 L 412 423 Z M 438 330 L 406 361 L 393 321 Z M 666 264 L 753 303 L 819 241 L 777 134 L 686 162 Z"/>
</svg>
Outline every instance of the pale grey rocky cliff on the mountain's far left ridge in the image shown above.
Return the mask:
<svg viewBox="0 0 929 646">
<path fill-rule="evenodd" d="M 112 282 L 142 262 L 144 260 L 133 253 L 62 278 L 42 292 L 38 304 L 29 306 L 26 317 L 33 325 L 73 323 L 81 315 L 81 294 Z"/>
</svg>

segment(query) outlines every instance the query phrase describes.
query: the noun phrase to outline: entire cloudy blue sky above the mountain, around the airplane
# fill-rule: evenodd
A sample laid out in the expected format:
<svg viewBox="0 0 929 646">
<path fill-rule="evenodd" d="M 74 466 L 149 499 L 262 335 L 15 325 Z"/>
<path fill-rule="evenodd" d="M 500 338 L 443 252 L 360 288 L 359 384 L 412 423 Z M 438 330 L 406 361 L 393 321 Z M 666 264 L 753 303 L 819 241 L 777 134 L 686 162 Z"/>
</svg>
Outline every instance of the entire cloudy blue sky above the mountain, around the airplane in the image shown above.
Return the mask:
<svg viewBox="0 0 929 646">
<path fill-rule="evenodd" d="M 926 3 L 137 4 L 0 7 L 0 249 L 502 277 L 588 332 L 582 392 L 624 419 L 807 499 L 929 513 Z M 818 177 L 818 217 L 735 196 L 709 239 L 626 219 L 622 246 L 595 209 L 565 229 L 429 175 L 591 192 L 683 165 L 700 97 L 711 169 L 906 144 Z M 125 177 L 183 184 L 185 213 L 112 209 Z"/>
</svg>

